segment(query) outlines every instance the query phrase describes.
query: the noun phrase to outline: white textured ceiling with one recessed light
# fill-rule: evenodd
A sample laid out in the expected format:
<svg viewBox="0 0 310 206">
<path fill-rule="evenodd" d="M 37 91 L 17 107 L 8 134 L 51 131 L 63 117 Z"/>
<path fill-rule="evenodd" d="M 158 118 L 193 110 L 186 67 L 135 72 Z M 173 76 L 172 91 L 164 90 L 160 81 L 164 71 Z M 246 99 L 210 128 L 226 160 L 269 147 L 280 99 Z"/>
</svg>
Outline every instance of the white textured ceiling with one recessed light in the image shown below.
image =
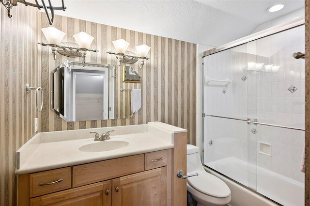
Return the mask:
<svg viewBox="0 0 310 206">
<path fill-rule="evenodd" d="M 266 9 L 276 3 L 279 12 Z M 53 6 L 59 5 L 52 0 Z M 304 0 L 64 0 L 55 14 L 190 43 L 220 46 L 304 7 Z"/>
</svg>

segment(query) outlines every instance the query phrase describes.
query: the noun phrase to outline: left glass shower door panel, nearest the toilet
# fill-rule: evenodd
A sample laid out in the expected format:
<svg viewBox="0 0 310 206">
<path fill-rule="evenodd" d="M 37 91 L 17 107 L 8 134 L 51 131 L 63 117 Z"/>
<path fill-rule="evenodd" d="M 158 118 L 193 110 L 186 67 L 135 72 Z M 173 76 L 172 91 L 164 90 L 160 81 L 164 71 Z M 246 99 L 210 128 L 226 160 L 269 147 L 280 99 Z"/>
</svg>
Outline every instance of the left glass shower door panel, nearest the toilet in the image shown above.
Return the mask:
<svg viewBox="0 0 310 206">
<path fill-rule="evenodd" d="M 256 73 L 247 70 L 256 54 L 249 51 L 256 48 L 243 44 L 203 58 L 204 164 L 256 190 L 257 127 L 247 124 L 248 111 L 252 119 L 257 112 Z"/>
</svg>

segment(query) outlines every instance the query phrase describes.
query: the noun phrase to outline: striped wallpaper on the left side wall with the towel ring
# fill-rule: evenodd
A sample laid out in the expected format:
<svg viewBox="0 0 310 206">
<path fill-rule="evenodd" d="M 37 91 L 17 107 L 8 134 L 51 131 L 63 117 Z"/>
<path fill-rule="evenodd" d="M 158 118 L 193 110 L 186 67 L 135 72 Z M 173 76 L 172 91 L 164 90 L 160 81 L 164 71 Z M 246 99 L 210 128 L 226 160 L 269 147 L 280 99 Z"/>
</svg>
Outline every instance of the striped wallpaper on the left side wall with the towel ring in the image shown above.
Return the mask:
<svg viewBox="0 0 310 206">
<path fill-rule="evenodd" d="M 0 205 L 16 205 L 16 150 L 34 136 L 34 118 L 40 113 L 35 92 L 25 84 L 40 86 L 37 50 L 38 17 L 35 8 L 16 6 L 12 18 L 1 5 L 0 15 Z"/>
</svg>

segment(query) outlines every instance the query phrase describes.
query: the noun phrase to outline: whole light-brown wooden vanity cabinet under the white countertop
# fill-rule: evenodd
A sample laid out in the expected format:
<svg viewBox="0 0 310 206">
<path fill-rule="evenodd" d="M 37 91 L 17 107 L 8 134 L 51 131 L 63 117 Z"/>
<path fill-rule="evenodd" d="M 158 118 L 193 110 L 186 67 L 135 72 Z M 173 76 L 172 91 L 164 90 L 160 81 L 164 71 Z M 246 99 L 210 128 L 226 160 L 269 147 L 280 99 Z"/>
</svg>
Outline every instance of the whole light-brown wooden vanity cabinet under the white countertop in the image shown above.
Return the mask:
<svg viewBox="0 0 310 206">
<path fill-rule="evenodd" d="M 186 174 L 186 132 L 175 136 L 172 149 L 18 175 L 17 206 L 186 206 L 176 176 Z"/>
</svg>

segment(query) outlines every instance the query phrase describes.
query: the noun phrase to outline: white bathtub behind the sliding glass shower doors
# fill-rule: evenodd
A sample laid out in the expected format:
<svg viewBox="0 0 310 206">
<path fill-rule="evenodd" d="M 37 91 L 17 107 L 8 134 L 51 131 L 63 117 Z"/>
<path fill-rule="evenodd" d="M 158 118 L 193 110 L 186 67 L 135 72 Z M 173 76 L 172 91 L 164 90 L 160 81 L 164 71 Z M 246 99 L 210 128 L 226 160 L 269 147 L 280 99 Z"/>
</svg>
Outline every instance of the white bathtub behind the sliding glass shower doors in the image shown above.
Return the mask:
<svg viewBox="0 0 310 206">
<path fill-rule="evenodd" d="M 304 206 L 304 183 L 298 182 L 294 179 L 285 177 L 272 171 L 263 169 L 261 167 L 257 167 L 256 170 L 256 166 L 248 164 L 246 161 L 234 157 L 208 162 L 206 163 L 206 165 L 216 170 L 217 172 L 222 173 L 245 186 L 248 186 L 251 189 L 255 189 L 256 186 L 257 188 L 256 191 L 258 193 L 263 194 L 264 196 L 278 202 L 281 205 Z M 214 173 L 212 170 L 207 169 L 207 171 L 212 174 L 217 174 Z M 257 183 L 256 183 L 256 171 L 257 171 Z M 220 174 L 218 175 L 221 179 L 225 178 Z M 229 182 L 229 187 L 232 190 L 232 198 L 233 198 L 234 195 L 233 190 L 236 189 L 232 187 L 238 187 L 239 190 L 240 186 L 234 183 L 233 181 L 229 181 L 229 179 L 227 179 L 226 181 Z M 246 188 L 244 189 L 247 190 Z M 252 194 L 253 198 L 259 196 L 254 194 Z M 240 195 L 240 191 L 235 192 L 235 195 Z M 262 197 L 259 196 L 257 198 L 261 199 Z M 274 205 L 274 203 L 272 203 L 271 201 L 267 202 L 268 204 L 266 205 Z M 249 203 L 253 204 L 253 200 L 249 200 Z M 242 206 L 243 204 L 239 204 L 237 202 L 233 204 L 232 201 L 232 204 L 230 205 Z"/>
</svg>

